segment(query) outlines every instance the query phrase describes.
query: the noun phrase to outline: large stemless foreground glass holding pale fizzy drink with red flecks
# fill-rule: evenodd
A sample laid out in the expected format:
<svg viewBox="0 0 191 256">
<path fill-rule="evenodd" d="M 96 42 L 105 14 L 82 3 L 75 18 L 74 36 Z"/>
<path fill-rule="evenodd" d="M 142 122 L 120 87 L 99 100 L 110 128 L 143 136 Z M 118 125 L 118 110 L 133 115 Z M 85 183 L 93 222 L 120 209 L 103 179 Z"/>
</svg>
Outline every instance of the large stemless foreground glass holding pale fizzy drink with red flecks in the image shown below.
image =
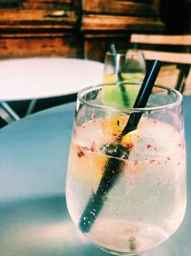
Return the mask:
<svg viewBox="0 0 191 256">
<path fill-rule="evenodd" d="M 123 82 L 126 91 L 139 84 Z M 105 86 L 77 96 L 66 198 L 79 230 L 103 250 L 141 255 L 179 228 L 186 207 L 182 96 L 155 85 L 144 108 L 105 105 Z M 130 116 L 131 132 L 121 136 Z"/>
</svg>

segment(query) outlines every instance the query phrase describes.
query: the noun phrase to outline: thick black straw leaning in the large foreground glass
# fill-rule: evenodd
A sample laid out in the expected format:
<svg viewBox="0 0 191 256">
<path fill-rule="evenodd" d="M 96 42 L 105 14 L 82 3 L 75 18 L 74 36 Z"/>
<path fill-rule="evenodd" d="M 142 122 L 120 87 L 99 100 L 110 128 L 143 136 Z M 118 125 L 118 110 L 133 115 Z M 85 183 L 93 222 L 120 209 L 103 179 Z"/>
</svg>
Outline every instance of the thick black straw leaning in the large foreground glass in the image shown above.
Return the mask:
<svg viewBox="0 0 191 256">
<path fill-rule="evenodd" d="M 146 105 L 153 85 L 158 77 L 160 66 L 161 62 L 159 60 L 152 61 L 152 64 L 148 69 L 139 89 L 134 108 L 144 107 Z M 78 225 L 80 230 L 84 233 L 88 233 L 91 230 L 99 212 L 107 200 L 107 194 L 117 182 L 117 178 L 122 171 L 122 161 L 119 158 L 121 156 L 121 150 L 123 149 L 121 148 L 122 146 L 119 144 L 119 142 L 122 136 L 138 127 L 140 117 L 141 113 L 131 113 L 125 128 L 123 128 L 121 134 L 117 138 L 118 144 L 116 145 L 115 153 L 113 154 L 114 158 L 108 159 L 96 193 L 92 194 L 80 217 Z M 131 149 L 127 149 L 128 155 L 130 151 Z"/>
</svg>

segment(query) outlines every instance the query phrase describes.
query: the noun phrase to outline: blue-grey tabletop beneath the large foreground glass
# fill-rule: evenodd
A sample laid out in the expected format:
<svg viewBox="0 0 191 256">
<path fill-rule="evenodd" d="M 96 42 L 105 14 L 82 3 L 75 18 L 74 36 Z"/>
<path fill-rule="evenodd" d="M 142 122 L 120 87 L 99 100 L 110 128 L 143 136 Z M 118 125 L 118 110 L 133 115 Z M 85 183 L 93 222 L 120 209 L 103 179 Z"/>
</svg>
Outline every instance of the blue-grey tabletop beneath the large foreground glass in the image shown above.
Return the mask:
<svg viewBox="0 0 191 256">
<path fill-rule="evenodd" d="M 142 256 L 191 255 L 191 97 L 183 98 L 187 211 L 180 229 Z M 74 103 L 33 114 L 0 130 L 0 248 L 3 256 L 106 256 L 74 227 L 64 187 Z"/>
</svg>

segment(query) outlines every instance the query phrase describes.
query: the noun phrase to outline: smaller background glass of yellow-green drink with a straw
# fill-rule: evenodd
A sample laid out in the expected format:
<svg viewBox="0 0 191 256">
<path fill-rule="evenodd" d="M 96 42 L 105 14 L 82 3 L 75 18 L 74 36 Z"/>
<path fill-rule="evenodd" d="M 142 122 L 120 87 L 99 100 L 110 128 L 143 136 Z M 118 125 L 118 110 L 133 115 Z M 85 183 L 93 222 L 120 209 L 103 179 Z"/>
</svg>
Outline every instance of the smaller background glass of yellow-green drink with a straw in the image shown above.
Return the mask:
<svg viewBox="0 0 191 256">
<path fill-rule="evenodd" d="M 112 47 L 113 49 L 113 47 Z M 107 88 L 104 91 L 107 97 L 103 96 L 103 103 L 105 105 L 116 103 L 118 106 L 129 107 L 135 96 L 138 94 L 138 86 L 135 83 L 141 83 L 146 73 L 146 62 L 142 53 L 136 50 L 107 52 L 104 60 L 103 82 L 111 83 L 118 81 L 125 81 L 131 83 L 132 88 L 128 88 L 128 95 L 126 95 L 125 88 L 121 82 L 121 90 L 123 93 L 118 93 L 118 88 Z M 130 85 L 129 85 L 130 86 Z"/>
</svg>

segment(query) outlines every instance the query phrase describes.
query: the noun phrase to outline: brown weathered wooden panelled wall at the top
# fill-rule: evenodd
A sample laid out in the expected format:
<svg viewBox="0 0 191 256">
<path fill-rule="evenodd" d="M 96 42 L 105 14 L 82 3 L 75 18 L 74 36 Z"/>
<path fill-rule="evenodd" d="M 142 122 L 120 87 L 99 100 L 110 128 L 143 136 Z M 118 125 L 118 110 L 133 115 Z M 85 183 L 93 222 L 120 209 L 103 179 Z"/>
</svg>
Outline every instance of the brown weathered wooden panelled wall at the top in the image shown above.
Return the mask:
<svg viewBox="0 0 191 256">
<path fill-rule="evenodd" d="M 134 32 L 164 30 L 156 0 L 1 0 L 0 58 L 63 56 L 102 60 Z"/>
</svg>

